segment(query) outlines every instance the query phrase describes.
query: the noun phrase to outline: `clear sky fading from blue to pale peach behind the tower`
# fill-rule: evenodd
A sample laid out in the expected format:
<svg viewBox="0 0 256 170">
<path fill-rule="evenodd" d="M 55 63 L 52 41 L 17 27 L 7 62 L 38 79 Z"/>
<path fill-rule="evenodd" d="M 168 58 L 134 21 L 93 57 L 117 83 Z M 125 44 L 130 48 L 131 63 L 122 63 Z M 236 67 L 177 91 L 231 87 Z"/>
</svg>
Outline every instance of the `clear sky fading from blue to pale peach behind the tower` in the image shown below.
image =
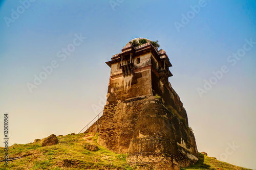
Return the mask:
<svg viewBox="0 0 256 170">
<path fill-rule="evenodd" d="M 10 144 L 79 132 L 103 108 L 105 62 L 145 37 L 173 64 L 169 82 L 199 152 L 255 169 L 255 27 L 247 0 L 0 1 L 0 119 L 9 113 Z"/>
</svg>

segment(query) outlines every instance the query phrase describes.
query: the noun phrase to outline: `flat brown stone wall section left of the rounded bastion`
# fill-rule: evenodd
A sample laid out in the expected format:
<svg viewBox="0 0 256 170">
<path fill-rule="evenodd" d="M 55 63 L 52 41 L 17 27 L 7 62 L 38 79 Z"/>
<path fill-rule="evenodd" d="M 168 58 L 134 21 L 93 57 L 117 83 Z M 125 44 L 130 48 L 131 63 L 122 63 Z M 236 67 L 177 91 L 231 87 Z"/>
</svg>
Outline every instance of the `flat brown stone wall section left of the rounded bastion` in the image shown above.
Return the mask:
<svg viewBox="0 0 256 170">
<path fill-rule="evenodd" d="M 98 143 L 116 153 L 128 153 L 139 111 L 147 98 L 148 96 L 140 96 L 106 105 L 103 115 L 98 120 Z M 97 123 L 86 132 L 95 133 L 96 127 Z"/>
</svg>

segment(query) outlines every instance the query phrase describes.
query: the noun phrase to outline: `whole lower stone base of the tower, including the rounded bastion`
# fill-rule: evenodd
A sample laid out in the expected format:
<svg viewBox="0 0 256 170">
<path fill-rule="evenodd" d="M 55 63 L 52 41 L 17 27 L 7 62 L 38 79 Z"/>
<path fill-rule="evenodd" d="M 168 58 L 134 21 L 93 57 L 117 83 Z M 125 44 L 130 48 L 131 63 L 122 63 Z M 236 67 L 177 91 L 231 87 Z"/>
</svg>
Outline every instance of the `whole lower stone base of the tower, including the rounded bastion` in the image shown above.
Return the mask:
<svg viewBox="0 0 256 170">
<path fill-rule="evenodd" d="M 153 95 L 106 105 L 97 124 L 98 143 L 129 153 L 127 162 L 139 169 L 179 169 L 198 160 L 193 132 Z M 97 124 L 87 132 L 96 132 Z"/>
</svg>

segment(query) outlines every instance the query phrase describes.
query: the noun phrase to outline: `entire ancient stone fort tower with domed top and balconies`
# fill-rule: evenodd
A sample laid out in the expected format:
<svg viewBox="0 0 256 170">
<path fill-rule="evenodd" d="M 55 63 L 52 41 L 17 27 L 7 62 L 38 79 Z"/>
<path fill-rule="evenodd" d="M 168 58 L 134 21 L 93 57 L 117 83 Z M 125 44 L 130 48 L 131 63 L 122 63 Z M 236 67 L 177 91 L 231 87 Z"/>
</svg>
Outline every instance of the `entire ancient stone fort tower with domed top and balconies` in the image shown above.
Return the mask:
<svg viewBox="0 0 256 170">
<path fill-rule="evenodd" d="M 139 42 L 136 38 L 133 42 Z M 187 114 L 168 77 L 172 64 L 150 40 L 106 62 L 111 67 L 103 115 L 86 132 L 98 132 L 98 143 L 138 169 L 180 169 L 198 160 Z"/>
</svg>

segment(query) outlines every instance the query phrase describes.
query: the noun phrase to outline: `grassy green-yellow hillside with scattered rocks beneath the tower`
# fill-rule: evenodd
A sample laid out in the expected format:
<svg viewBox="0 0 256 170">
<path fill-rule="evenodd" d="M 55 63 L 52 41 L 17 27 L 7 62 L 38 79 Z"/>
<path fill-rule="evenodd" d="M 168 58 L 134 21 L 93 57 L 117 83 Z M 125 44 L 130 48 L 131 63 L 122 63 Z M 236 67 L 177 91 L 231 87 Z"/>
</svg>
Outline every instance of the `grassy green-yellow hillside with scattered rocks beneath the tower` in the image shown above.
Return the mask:
<svg viewBox="0 0 256 170">
<path fill-rule="evenodd" d="M 41 141 L 28 144 L 14 144 L 9 147 L 8 166 L 0 162 L 0 169 L 126 169 L 134 168 L 126 164 L 127 154 L 115 154 L 97 141 L 97 134 L 58 136 L 56 145 L 41 147 Z M 98 151 L 84 149 L 95 144 Z M 4 148 L 0 149 L 0 160 L 4 158 Z M 218 161 L 200 154 L 199 161 L 184 169 L 247 169 Z"/>
</svg>

